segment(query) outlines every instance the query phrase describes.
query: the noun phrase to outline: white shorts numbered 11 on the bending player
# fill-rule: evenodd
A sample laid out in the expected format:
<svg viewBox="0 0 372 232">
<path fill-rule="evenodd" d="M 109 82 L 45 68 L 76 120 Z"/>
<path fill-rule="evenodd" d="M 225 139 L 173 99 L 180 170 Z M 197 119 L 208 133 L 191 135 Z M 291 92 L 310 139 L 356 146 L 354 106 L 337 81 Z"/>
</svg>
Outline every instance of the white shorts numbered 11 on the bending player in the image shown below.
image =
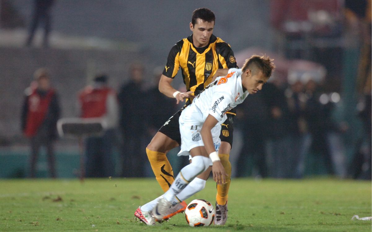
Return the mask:
<svg viewBox="0 0 372 232">
<path fill-rule="evenodd" d="M 204 146 L 200 135 L 203 123 L 203 115 L 197 107 L 194 107 L 194 105 L 189 105 L 182 111 L 179 119 L 181 150 L 178 153 L 178 156 L 189 156 L 192 148 Z M 217 124 L 213 127 L 211 133 L 214 146 L 216 151 L 218 151 L 219 146 L 221 145 L 221 139 L 219 138 L 221 125 Z"/>
</svg>

